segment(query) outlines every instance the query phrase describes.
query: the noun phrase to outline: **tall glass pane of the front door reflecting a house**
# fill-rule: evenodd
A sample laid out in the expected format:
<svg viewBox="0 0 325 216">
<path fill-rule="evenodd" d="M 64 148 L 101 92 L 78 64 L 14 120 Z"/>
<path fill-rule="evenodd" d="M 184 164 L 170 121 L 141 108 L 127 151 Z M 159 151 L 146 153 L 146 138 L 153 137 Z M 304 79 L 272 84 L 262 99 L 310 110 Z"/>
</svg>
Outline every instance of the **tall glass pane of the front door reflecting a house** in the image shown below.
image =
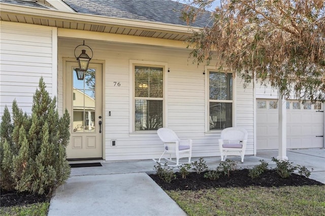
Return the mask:
<svg viewBox="0 0 325 216">
<path fill-rule="evenodd" d="M 88 69 L 84 80 L 73 71 L 73 132 L 95 131 L 95 69 Z"/>
</svg>

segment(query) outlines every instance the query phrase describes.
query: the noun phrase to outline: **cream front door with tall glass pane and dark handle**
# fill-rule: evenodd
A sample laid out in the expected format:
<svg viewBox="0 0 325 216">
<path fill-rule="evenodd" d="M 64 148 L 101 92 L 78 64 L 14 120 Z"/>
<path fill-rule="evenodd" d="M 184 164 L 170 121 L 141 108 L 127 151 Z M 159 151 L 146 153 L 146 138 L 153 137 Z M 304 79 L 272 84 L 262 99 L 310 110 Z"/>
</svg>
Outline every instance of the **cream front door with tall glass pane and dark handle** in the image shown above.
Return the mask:
<svg viewBox="0 0 325 216">
<path fill-rule="evenodd" d="M 78 80 L 78 63 L 66 63 L 66 108 L 71 117 L 68 159 L 103 158 L 102 67 L 90 63 L 84 79 Z"/>
</svg>

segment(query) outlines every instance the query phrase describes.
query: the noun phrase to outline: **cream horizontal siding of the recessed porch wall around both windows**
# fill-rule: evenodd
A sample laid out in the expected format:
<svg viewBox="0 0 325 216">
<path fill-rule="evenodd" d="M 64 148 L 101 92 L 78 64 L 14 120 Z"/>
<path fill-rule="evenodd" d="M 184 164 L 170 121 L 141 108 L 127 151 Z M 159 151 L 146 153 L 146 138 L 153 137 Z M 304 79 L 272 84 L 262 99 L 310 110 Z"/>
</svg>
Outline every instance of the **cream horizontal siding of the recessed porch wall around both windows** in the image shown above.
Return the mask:
<svg viewBox="0 0 325 216">
<path fill-rule="evenodd" d="M 63 58 L 74 60 L 73 51 L 82 41 L 58 40 L 58 99 L 64 104 Z M 100 41 L 85 41 L 93 50 L 92 61 L 105 63 L 104 73 L 104 146 L 105 160 L 135 160 L 158 158 L 163 152 L 163 144 L 156 132 L 129 132 L 129 60 L 166 62 L 170 72 L 166 72 L 167 127 L 173 129 L 180 138 L 193 139 L 193 157 L 219 156 L 218 138 L 220 131 L 205 131 L 205 75 L 204 65 L 188 62 L 189 50 L 154 46 L 117 44 Z M 166 68 L 168 69 L 168 68 Z M 114 86 L 120 82 L 120 87 Z M 236 79 L 236 125 L 249 131 L 247 154 L 253 154 L 253 88 L 243 89 Z M 64 107 L 60 107 L 63 111 Z M 108 115 L 109 111 L 111 116 Z M 111 146 L 116 140 L 116 146 Z M 217 158 L 220 159 L 219 157 Z"/>
</svg>

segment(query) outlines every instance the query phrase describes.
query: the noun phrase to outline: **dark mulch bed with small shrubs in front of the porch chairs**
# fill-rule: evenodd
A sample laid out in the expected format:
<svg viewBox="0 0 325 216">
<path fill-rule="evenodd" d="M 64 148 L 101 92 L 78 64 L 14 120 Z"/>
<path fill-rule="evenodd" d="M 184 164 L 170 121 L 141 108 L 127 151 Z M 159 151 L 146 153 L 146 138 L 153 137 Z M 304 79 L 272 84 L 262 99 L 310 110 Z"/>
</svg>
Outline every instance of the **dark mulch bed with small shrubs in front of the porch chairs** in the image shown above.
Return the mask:
<svg viewBox="0 0 325 216">
<path fill-rule="evenodd" d="M 324 185 L 314 179 L 302 175 L 292 174 L 289 178 L 281 178 L 275 170 L 270 169 L 264 172 L 259 178 L 252 179 L 248 176 L 248 169 L 239 169 L 230 172 L 230 177 L 221 174 L 219 179 L 210 180 L 204 177 L 205 172 L 200 174 L 191 172 L 186 178 L 182 178 L 179 172 L 176 179 L 166 183 L 157 174 L 150 174 L 150 177 L 164 190 L 201 190 L 209 188 L 229 187 L 281 187 L 281 186 L 305 186 Z"/>
</svg>

